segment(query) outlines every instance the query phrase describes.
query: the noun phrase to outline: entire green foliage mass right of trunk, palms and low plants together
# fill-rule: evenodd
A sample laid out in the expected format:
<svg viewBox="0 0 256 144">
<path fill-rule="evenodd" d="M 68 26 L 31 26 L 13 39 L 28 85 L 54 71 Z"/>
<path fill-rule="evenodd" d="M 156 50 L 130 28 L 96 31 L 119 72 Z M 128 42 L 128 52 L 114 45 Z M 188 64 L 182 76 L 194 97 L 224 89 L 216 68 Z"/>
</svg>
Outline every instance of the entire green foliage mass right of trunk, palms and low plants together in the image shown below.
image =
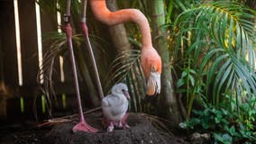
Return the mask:
<svg viewBox="0 0 256 144">
<path fill-rule="evenodd" d="M 216 143 L 255 142 L 255 11 L 237 2 L 176 3 L 170 33 L 187 105 L 180 126 L 210 132 Z M 204 110 L 191 115 L 195 102 Z"/>
</svg>

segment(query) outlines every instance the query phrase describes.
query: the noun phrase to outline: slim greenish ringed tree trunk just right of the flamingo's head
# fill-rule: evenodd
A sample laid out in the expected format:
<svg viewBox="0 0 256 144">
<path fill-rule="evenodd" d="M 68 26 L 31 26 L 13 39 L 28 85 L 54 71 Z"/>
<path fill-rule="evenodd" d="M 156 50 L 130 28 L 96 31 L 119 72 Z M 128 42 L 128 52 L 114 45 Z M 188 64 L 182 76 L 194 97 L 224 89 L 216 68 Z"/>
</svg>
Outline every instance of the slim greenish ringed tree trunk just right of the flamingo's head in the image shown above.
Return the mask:
<svg viewBox="0 0 256 144">
<path fill-rule="evenodd" d="M 161 74 L 161 93 L 160 93 L 160 114 L 171 121 L 178 123 L 180 121 L 180 113 L 178 112 L 178 101 L 174 94 L 173 80 L 169 65 L 169 50 L 167 43 L 167 32 L 163 24 L 165 24 L 165 10 L 163 0 L 154 0 L 149 3 L 151 5 L 151 26 L 153 35 L 153 45 L 158 50 L 162 60 Z"/>
</svg>

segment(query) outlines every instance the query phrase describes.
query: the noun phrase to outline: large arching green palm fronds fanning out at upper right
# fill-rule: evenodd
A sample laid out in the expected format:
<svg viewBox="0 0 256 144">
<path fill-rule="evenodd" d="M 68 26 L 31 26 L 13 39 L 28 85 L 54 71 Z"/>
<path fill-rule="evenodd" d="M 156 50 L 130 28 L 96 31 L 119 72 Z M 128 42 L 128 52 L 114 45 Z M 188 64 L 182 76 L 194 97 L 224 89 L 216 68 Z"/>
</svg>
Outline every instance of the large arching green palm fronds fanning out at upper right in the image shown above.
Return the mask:
<svg viewBox="0 0 256 144">
<path fill-rule="evenodd" d="M 187 42 L 186 56 L 198 60 L 193 67 L 206 77 L 206 95 L 213 95 L 213 103 L 222 94 L 256 92 L 256 29 L 251 18 L 255 18 L 251 9 L 225 1 L 184 8 L 174 23 L 177 40 Z M 190 45 L 187 32 L 191 32 Z"/>
</svg>

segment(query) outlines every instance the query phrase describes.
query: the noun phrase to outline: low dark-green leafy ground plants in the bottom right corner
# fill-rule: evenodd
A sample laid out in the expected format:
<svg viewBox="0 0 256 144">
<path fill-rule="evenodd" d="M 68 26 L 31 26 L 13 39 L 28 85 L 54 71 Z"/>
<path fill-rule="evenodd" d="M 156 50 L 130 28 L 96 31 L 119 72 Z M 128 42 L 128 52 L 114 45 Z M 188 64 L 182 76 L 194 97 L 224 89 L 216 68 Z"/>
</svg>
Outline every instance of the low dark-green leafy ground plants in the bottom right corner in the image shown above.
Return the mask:
<svg viewBox="0 0 256 144">
<path fill-rule="evenodd" d="M 206 105 L 203 111 L 194 110 L 193 118 L 179 126 L 187 130 L 211 133 L 215 143 L 255 143 L 256 96 L 253 95 L 239 105 L 232 95 L 225 97 L 226 103 L 219 103 L 219 107 Z"/>
</svg>

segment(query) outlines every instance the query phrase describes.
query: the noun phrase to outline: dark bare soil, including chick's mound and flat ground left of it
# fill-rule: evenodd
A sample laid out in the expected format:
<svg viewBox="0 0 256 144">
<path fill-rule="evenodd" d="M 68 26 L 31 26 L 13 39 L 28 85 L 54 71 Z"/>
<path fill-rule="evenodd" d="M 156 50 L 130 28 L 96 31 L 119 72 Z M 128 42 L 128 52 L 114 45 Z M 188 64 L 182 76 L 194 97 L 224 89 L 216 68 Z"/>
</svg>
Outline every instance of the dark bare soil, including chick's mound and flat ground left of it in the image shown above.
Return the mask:
<svg viewBox="0 0 256 144">
<path fill-rule="evenodd" d="M 72 132 L 78 117 L 55 126 L 37 127 L 38 123 L 0 124 L 0 144 L 188 144 L 163 130 L 156 129 L 143 113 L 131 113 L 131 129 L 107 133 L 102 125 L 101 113 L 86 114 L 87 122 L 97 133 Z"/>
</svg>

